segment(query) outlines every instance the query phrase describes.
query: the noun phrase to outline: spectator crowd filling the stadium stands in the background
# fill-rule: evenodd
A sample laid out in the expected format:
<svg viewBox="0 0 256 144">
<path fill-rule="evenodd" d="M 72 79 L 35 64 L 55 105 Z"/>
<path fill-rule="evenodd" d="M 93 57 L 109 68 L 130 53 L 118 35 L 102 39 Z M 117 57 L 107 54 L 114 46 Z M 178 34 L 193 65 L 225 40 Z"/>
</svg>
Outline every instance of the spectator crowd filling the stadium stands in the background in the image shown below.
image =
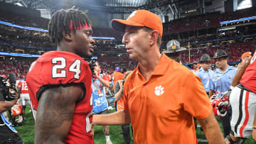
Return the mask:
<svg viewBox="0 0 256 144">
<path fill-rule="evenodd" d="M 47 29 L 48 27 L 49 20 L 46 18 L 31 18 L 6 11 L 0 12 L 2 13 L 0 21 L 35 28 Z M 239 33 L 234 31 L 225 32 L 225 35 L 218 35 L 218 33 L 211 31 L 209 28 L 219 26 L 220 21 L 254 16 L 255 12 L 254 8 L 239 10 L 233 13 L 213 12 L 164 23 L 165 31 L 161 49 L 164 50 L 164 48 L 166 48 L 166 43 L 171 40 L 170 38 L 174 38 L 174 35 L 171 34 L 181 33 L 183 31 L 202 30 L 205 32 L 201 33 L 201 31 L 197 31 L 192 35 L 188 34 L 186 36 L 181 33 L 178 41 L 181 43 L 181 46 L 187 48 L 187 50 L 181 52 L 181 61 L 183 64 L 198 62 L 199 57 L 201 57 L 203 53 L 207 53 L 210 57 L 213 57 L 216 50 L 223 49 L 228 52 L 229 64 L 238 65 L 241 53 L 252 51 L 255 47 L 256 43 L 253 40 L 254 37 L 237 38 Z M 114 40 L 95 39 L 95 56 L 98 57 L 102 72 L 112 73 L 114 72 L 114 67 L 117 66 L 125 67 L 128 70 L 133 70 L 137 66 L 137 62 L 129 59 L 124 46 L 119 46 L 122 44 L 122 33 L 114 31 L 111 28 L 93 28 L 93 36 L 115 38 Z M 222 38 L 234 39 L 222 40 Z M 213 40 L 213 42 L 200 43 L 205 40 Z M 191 48 L 190 51 L 188 51 L 188 42 L 191 42 L 189 45 Z M 44 52 L 55 49 L 56 45 L 50 42 L 48 33 L 14 28 L 0 24 L 1 52 L 42 55 Z M 11 61 L 9 59 L 10 57 L 6 56 L 0 57 L 0 60 L 3 63 L 3 65 L 0 66 L 0 74 L 8 74 L 10 70 L 15 70 L 20 78 L 23 78 L 23 76 L 26 75 L 29 65 L 33 60 L 36 60 L 36 58 L 28 57 L 15 57 L 15 60 Z M 214 64 L 213 61 L 211 63 Z"/>
</svg>

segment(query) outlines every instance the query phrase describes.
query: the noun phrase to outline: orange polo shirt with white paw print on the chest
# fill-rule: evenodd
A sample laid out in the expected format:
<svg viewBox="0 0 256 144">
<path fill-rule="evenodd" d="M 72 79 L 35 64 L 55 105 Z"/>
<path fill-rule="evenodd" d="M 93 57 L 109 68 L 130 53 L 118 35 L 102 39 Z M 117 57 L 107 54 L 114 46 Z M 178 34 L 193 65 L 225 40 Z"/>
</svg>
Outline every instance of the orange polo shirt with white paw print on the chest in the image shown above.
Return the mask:
<svg viewBox="0 0 256 144">
<path fill-rule="evenodd" d="M 134 143 L 197 143 L 193 116 L 206 118 L 212 106 L 200 78 L 162 54 L 148 80 L 139 65 L 125 79 L 124 110 Z"/>
</svg>

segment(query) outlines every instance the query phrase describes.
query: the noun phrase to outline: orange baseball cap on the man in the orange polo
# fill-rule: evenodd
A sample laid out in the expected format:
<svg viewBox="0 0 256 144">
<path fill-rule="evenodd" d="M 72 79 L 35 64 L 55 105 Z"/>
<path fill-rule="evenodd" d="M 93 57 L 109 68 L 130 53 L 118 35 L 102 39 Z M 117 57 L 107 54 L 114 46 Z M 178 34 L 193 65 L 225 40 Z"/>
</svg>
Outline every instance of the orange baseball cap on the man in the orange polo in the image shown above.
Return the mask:
<svg viewBox="0 0 256 144">
<path fill-rule="evenodd" d="M 159 16 L 146 10 L 137 10 L 127 18 L 127 20 L 113 19 L 111 26 L 116 31 L 125 31 L 125 26 L 146 26 L 163 35 L 163 24 Z"/>
</svg>

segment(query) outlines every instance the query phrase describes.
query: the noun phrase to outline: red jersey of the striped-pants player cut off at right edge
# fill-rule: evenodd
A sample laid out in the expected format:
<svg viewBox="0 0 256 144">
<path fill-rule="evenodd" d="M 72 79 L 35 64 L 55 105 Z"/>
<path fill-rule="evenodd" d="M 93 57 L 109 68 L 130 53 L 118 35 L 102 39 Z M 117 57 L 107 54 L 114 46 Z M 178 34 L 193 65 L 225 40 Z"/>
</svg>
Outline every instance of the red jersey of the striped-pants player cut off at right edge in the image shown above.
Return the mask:
<svg viewBox="0 0 256 144">
<path fill-rule="evenodd" d="M 240 79 L 240 83 L 256 94 L 256 50 L 252 56 L 250 65 L 246 68 L 245 73 Z"/>
</svg>

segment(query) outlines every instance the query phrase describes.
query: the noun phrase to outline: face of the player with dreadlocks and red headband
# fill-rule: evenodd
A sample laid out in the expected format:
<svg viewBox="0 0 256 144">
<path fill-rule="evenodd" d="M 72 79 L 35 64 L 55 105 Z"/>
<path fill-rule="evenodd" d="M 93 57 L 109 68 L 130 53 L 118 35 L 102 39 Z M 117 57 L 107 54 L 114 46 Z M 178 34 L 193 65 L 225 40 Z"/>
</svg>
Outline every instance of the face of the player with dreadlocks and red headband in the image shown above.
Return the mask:
<svg viewBox="0 0 256 144">
<path fill-rule="evenodd" d="M 73 33 L 73 32 L 72 32 Z M 92 29 L 82 28 L 73 33 L 74 52 L 80 57 L 92 57 L 95 40 L 92 39 Z"/>
</svg>

